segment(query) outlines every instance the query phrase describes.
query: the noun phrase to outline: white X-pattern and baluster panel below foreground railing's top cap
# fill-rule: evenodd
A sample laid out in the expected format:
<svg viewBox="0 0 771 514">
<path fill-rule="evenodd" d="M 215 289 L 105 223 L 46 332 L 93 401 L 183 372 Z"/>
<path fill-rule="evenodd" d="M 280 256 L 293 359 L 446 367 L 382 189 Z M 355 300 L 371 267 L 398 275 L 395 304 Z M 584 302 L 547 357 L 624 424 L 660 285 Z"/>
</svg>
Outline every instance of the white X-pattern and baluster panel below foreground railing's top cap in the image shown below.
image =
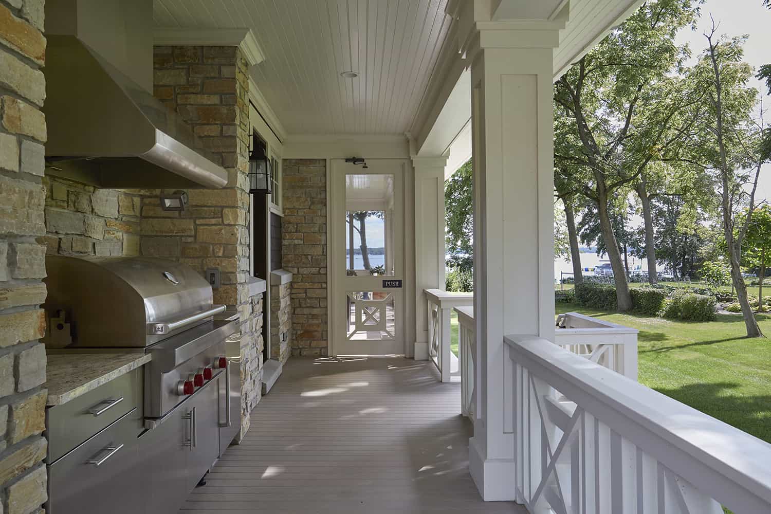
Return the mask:
<svg viewBox="0 0 771 514">
<path fill-rule="evenodd" d="M 592 359 L 594 360 L 594 359 Z M 534 514 L 721 514 L 693 485 L 570 394 L 515 363 L 517 498 Z"/>
</svg>

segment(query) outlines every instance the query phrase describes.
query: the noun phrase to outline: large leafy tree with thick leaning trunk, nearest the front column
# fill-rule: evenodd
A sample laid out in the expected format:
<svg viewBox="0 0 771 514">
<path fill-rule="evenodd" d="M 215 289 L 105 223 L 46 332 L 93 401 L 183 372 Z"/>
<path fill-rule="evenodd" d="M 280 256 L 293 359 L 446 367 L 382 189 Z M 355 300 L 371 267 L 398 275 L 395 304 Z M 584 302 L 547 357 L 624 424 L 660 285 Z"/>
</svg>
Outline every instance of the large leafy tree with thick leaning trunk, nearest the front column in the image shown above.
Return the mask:
<svg viewBox="0 0 771 514">
<path fill-rule="evenodd" d="M 690 0 L 646 2 L 555 85 L 559 116 L 573 123 L 571 138 L 555 139 L 554 157 L 558 165 L 574 163 L 582 170 L 583 180 L 575 183 L 597 207 L 619 311 L 631 309 L 631 295 L 610 203 L 690 128 L 692 121 L 682 115 L 697 100 L 672 72 L 686 55 L 675 45 L 675 34 L 696 15 Z M 555 126 L 555 136 L 561 135 Z"/>
</svg>

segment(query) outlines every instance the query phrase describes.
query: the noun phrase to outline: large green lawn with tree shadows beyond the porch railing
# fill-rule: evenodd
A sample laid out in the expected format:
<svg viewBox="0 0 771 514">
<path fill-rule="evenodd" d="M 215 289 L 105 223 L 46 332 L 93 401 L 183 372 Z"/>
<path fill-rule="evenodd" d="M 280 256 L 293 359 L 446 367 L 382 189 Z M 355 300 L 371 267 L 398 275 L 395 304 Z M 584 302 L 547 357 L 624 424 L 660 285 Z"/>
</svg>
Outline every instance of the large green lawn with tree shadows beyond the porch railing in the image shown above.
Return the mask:
<svg viewBox="0 0 771 514">
<path fill-rule="evenodd" d="M 570 311 L 640 331 L 641 384 L 771 442 L 771 341 L 745 338 L 741 316 L 699 323 L 557 303 L 558 313 Z M 771 316 L 757 319 L 771 335 Z"/>
</svg>

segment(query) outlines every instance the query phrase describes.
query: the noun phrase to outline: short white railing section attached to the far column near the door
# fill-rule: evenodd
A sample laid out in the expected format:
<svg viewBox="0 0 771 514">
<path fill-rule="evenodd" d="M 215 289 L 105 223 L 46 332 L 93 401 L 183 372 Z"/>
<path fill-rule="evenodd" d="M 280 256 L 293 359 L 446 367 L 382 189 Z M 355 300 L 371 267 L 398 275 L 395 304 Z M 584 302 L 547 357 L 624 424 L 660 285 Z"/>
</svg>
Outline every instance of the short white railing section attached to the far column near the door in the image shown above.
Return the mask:
<svg viewBox="0 0 771 514">
<path fill-rule="evenodd" d="M 453 293 L 439 289 L 424 289 L 428 302 L 429 318 L 429 360 L 433 361 L 443 382 L 450 381 L 453 371 L 453 357 L 450 351 L 452 333 L 449 315 L 453 307 L 472 305 L 473 293 Z"/>
</svg>

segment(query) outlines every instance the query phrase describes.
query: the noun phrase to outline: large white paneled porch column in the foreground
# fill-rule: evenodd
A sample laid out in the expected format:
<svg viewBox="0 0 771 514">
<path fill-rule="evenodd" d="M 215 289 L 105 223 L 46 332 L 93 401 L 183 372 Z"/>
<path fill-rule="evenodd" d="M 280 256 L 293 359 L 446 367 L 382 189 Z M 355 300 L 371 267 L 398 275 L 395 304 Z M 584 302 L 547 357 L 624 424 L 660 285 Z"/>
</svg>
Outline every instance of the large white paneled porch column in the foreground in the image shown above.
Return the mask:
<svg viewBox="0 0 771 514">
<path fill-rule="evenodd" d="M 513 367 L 504 334 L 554 341 L 553 47 L 556 22 L 477 22 L 471 59 L 476 420 L 470 472 L 516 498 Z"/>
</svg>

